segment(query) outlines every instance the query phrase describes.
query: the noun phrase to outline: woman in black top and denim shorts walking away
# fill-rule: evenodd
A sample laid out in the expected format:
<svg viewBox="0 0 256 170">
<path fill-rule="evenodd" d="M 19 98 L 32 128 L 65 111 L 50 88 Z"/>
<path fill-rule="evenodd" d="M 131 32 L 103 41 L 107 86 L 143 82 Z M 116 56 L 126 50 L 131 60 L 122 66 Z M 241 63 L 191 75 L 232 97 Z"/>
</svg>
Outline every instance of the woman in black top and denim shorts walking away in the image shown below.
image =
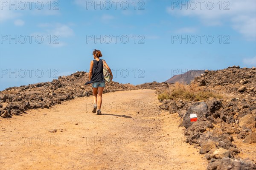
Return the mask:
<svg viewBox="0 0 256 170">
<path fill-rule="evenodd" d="M 108 69 L 112 77 L 113 77 L 113 74 L 111 72 L 111 69 L 108 67 L 107 63 L 105 62 L 105 60 L 99 59 L 99 57 L 102 57 L 101 51 L 94 50 L 93 51 L 94 60 L 90 62 L 89 82 L 86 82 L 85 85 L 93 83 L 92 84 L 93 85 L 93 102 L 94 102 L 93 113 L 96 113 L 96 110 L 98 108 L 97 114 L 102 114 L 100 109 L 102 105 L 102 92 L 105 87 L 103 65 Z M 113 78 L 111 78 L 111 80 L 112 79 Z"/>
</svg>

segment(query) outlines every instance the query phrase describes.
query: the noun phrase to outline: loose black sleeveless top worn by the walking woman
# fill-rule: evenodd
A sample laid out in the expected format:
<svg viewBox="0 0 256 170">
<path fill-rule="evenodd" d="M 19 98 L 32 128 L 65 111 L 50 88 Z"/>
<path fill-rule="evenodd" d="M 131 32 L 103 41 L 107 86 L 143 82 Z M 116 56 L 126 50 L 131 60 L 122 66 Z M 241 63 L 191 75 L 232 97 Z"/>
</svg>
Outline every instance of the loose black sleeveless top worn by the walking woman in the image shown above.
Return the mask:
<svg viewBox="0 0 256 170">
<path fill-rule="evenodd" d="M 89 82 L 86 82 L 85 85 L 88 85 L 93 82 L 105 82 L 104 75 L 103 75 L 103 61 L 100 59 L 97 61 L 96 59 L 93 60 L 93 75 L 92 79 Z"/>
</svg>

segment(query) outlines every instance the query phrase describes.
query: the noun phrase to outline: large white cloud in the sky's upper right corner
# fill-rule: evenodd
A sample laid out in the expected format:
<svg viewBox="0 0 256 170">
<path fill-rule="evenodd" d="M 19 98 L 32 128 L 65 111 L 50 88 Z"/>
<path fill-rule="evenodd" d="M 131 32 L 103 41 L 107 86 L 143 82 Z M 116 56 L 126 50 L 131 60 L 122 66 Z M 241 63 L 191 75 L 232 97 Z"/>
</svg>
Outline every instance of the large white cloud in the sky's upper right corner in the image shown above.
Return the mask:
<svg viewBox="0 0 256 170">
<path fill-rule="evenodd" d="M 196 3 L 198 1 L 188 1 L 188 9 L 186 9 L 185 6 L 180 6 L 180 4 L 178 4 L 177 6 L 167 7 L 166 11 L 172 15 L 198 17 L 206 26 L 220 26 L 227 24 L 234 30 L 241 33 L 247 40 L 255 40 L 255 0 L 221 0 L 221 7 L 219 0 L 206 0 L 202 6 L 200 6 L 200 3 L 197 3 L 197 8 L 194 10 L 192 9 L 194 8 L 194 6 L 192 6 L 192 2 Z M 207 9 L 206 4 L 208 2 L 214 3 L 214 8 L 212 10 L 209 10 L 209 8 Z M 191 8 L 189 8 L 189 3 L 191 3 Z M 224 8 L 226 10 L 224 10 Z"/>
</svg>

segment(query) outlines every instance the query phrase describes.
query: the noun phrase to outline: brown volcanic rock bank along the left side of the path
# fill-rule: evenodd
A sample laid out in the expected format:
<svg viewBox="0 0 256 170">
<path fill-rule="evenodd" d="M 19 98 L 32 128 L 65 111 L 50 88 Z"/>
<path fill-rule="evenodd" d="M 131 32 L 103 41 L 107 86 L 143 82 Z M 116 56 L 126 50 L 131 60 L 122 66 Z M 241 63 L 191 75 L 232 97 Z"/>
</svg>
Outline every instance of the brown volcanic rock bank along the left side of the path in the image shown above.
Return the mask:
<svg viewBox="0 0 256 170">
<path fill-rule="evenodd" d="M 92 87 L 84 85 L 87 81 L 88 73 L 80 71 L 70 76 L 60 76 L 52 82 L 6 88 L 4 91 L 0 91 L 0 116 L 8 118 L 12 115 L 26 113 L 28 109 L 50 108 L 65 100 L 90 96 Z M 151 82 L 134 86 L 111 81 L 106 83 L 103 93 L 135 89 L 161 89 L 161 87 L 166 88 L 168 85 L 167 83 Z"/>
</svg>

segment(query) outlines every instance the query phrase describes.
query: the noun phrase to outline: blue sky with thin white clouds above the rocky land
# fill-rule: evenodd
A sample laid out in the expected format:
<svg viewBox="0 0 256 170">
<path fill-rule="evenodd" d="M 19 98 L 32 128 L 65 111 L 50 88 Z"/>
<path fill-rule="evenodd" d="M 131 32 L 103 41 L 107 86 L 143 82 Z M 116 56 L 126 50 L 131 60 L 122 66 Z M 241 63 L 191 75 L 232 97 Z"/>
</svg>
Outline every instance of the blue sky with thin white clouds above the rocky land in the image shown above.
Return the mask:
<svg viewBox="0 0 256 170">
<path fill-rule="evenodd" d="M 134 85 L 256 66 L 255 0 L 10 2 L 0 0 L 0 90 L 87 71 L 93 49 L 114 81 Z"/>
</svg>

